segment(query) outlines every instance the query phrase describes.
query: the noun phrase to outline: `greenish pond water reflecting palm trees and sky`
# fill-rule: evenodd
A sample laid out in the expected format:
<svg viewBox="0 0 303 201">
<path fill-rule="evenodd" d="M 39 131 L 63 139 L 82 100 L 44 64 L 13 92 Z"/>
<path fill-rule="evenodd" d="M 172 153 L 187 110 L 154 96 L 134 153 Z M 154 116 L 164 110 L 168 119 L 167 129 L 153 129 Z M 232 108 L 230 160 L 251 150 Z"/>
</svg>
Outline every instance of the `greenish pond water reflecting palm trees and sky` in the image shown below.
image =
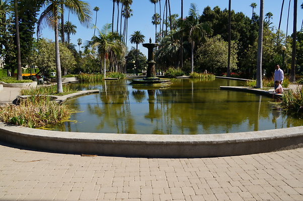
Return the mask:
<svg viewBox="0 0 303 201">
<path fill-rule="evenodd" d="M 303 119 L 277 110 L 266 96 L 220 90 L 242 81 L 172 79 L 169 87 L 133 86 L 131 80 L 72 84 L 100 93 L 67 100 L 78 111 L 53 126 L 57 131 L 129 134 L 215 134 L 303 125 Z"/>
</svg>

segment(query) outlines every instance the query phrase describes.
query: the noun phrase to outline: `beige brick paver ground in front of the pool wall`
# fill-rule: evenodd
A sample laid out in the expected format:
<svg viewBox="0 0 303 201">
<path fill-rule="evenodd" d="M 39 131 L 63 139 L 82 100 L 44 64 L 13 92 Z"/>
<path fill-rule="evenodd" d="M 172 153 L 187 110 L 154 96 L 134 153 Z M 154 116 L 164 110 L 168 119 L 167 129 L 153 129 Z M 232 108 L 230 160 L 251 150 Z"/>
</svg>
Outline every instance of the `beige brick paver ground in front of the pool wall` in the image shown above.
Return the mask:
<svg viewBox="0 0 303 201">
<path fill-rule="evenodd" d="M 303 200 L 303 148 L 217 158 L 47 153 L 0 143 L 0 200 Z"/>
</svg>

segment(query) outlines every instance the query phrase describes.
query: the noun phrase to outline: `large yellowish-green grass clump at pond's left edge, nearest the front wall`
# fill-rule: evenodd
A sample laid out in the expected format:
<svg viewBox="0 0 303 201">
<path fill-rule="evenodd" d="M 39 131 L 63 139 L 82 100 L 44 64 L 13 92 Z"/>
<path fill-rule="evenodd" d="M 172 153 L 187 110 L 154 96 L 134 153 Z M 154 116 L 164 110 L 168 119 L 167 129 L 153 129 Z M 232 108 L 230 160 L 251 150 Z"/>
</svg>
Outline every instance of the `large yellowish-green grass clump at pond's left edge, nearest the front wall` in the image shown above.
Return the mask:
<svg viewBox="0 0 303 201">
<path fill-rule="evenodd" d="M 44 95 L 20 99 L 19 105 L 0 108 L 0 121 L 7 124 L 39 128 L 67 121 L 70 111 L 65 105 L 58 105 Z"/>
</svg>

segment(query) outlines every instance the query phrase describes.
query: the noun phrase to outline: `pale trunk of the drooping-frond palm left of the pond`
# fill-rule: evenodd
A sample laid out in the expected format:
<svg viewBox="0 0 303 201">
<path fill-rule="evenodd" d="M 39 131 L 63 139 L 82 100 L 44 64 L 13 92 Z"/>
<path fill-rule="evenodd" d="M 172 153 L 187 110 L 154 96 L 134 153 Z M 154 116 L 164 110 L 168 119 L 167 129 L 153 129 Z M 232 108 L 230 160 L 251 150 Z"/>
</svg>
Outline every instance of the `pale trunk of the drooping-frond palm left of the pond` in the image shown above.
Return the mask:
<svg viewBox="0 0 303 201">
<path fill-rule="evenodd" d="M 55 10 L 55 16 L 57 11 Z M 61 63 L 59 52 L 59 39 L 58 39 L 58 21 L 55 20 L 55 56 L 56 56 L 56 76 L 57 76 L 57 93 L 62 93 L 62 77 L 61 77 Z"/>
</svg>

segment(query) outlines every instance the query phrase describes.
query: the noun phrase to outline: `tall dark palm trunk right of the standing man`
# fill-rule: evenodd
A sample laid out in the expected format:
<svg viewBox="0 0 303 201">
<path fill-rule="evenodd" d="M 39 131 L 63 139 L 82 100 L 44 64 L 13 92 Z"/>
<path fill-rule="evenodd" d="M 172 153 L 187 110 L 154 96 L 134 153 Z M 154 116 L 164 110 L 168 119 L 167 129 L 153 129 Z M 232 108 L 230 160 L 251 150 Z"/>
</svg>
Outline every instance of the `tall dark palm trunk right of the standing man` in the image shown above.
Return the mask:
<svg viewBox="0 0 303 201">
<path fill-rule="evenodd" d="M 292 53 L 291 53 L 291 69 L 290 69 L 290 80 L 295 82 L 295 43 L 296 43 L 296 18 L 297 18 L 297 0 L 293 2 L 293 33 L 292 33 Z"/>
</svg>

